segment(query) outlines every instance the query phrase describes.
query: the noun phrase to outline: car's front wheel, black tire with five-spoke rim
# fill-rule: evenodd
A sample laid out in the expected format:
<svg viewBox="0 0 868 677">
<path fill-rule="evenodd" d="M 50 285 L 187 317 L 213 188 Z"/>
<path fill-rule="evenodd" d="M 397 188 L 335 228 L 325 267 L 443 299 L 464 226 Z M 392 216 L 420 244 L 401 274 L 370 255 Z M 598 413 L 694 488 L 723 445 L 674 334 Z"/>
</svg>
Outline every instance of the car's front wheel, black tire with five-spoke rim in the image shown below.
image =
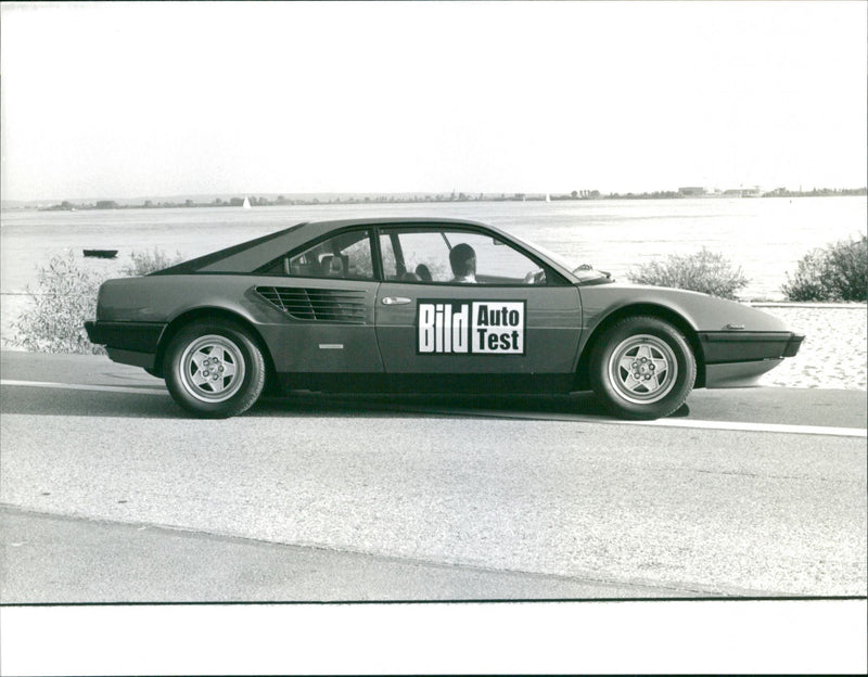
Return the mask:
<svg viewBox="0 0 868 677">
<path fill-rule="evenodd" d="M 695 380 L 697 360 L 684 334 L 654 317 L 616 322 L 591 350 L 591 389 L 621 418 L 648 420 L 674 413 Z"/>
</svg>

